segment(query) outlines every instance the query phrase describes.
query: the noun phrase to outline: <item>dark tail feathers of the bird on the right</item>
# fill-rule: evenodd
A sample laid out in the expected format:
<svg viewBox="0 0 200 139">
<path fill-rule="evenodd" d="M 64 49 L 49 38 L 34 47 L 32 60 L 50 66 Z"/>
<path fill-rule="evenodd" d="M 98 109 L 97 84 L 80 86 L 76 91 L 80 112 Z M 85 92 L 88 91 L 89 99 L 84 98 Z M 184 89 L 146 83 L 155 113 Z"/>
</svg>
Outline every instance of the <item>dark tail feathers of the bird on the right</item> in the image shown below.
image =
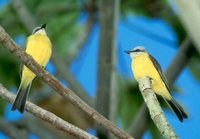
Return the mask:
<svg viewBox="0 0 200 139">
<path fill-rule="evenodd" d="M 174 98 L 171 98 L 171 100 L 164 99 L 166 103 L 169 105 L 169 107 L 174 111 L 178 119 L 183 122 L 183 119 L 187 119 L 188 115 L 183 110 L 183 108 L 176 102 Z"/>
</svg>

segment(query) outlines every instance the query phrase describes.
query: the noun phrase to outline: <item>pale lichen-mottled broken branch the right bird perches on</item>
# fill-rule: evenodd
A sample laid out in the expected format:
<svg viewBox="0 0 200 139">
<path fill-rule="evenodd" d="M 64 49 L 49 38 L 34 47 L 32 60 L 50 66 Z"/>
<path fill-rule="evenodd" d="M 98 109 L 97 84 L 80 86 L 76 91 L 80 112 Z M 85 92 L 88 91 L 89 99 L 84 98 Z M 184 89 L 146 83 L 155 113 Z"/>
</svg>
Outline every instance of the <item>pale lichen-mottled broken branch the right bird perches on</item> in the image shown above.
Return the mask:
<svg viewBox="0 0 200 139">
<path fill-rule="evenodd" d="M 149 77 L 139 80 L 139 88 L 149 109 L 151 119 L 154 121 L 163 137 L 167 139 L 178 139 L 178 136 L 174 132 L 174 129 L 170 126 L 162 108 L 160 107 L 160 103 L 151 88 L 151 81 Z"/>
</svg>

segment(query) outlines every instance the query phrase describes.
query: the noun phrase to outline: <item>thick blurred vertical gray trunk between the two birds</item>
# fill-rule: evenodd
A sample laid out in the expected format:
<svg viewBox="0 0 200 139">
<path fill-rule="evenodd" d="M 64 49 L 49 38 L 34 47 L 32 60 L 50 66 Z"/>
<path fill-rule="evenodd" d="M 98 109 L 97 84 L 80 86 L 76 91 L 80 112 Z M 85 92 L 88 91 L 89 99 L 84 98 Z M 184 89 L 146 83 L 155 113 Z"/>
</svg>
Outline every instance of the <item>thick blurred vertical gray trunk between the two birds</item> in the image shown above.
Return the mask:
<svg viewBox="0 0 200 139">
<path fill-rule="evenodd" d="M 100 43 L 96 106 L 100 113 L 113 122 L 116 121 L 118 98 L 116 74 L 118 14 L 119 0 L 102 0 L 99 3 Z M 100 138 L 108 138 L 108 132 L 101 128 L 97 134 Z"/>
</svg>

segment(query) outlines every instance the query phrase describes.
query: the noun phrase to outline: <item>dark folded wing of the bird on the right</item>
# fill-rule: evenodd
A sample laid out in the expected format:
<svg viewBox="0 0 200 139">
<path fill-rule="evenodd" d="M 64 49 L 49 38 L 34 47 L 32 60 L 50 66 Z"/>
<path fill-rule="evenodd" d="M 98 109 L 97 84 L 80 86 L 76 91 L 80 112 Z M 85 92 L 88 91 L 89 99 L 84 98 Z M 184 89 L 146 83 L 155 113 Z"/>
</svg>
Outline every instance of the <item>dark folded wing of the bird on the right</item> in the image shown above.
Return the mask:
<svg viewBox="0 0 200 139">
<path fill-rule="evenodd" d="M 163 80 L 163 82 L 165 83 L 165 86 L 167 87 L 168 91 L 170 92 L 170 89 L 169 89 L 169 86 L 168 86 L 168 83 L 167 83 L 167 79 L 165 78 L 165 75 L 161 69 L 161 66 L 160 64 L 157 62 L 157 60 L 149 54 L 149 58 L 151 59 L 151 61 L 153 62 L 153 65 L 156 67 L 161 79 Z"/>
</svg>

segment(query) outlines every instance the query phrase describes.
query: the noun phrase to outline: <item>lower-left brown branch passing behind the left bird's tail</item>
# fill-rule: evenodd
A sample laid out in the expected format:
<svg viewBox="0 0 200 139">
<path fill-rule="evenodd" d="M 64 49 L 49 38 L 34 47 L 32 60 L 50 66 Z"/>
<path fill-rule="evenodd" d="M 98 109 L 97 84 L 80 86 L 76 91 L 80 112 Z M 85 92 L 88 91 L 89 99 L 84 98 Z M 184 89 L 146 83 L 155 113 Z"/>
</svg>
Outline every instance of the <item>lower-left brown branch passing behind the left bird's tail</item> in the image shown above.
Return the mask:
<svg viewBox="0 0 200 139">
<path fill-rule="evenodd" d="M 6 88 L 4 88 L 1 84 L 0 84 L 0 96 L 10 103 L 13 103 L 13 101 L 15 99 L 15 95 L 13 95 L 8 90 L 6 90 Z M 26 111 L 32 113 L 33 115 L 52 124 L 53 126 L 57 127 L 58 129 L 66 132 L 70 135 L 73 135 L 75 137 L 83 138 L 83 139 L 97 139 L 96 137 L 90 135 L 89 133 L 83 131 L 82 129 L 79 129 L 78 127 L 57 117 L 55 114 L 48 112 L 29 101 L 26 103 Z"/>
</svg>

